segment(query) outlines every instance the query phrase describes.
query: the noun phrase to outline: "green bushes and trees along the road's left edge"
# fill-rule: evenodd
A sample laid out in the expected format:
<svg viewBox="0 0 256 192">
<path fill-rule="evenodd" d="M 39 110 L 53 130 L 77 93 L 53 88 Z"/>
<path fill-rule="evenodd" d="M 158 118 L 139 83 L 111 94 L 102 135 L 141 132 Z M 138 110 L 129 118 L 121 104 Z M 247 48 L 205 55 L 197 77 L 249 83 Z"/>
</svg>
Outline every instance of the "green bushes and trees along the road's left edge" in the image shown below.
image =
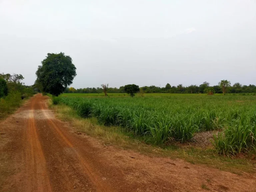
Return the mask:
<svg viewBox="0 0 256 192">
<path fill-rule="evenodd" d="M 20 107 L 22 100 L 36 93 L 34 86 L 26 86 L 21 74 L 0 74 L 0 119 Z"/>
</svg>

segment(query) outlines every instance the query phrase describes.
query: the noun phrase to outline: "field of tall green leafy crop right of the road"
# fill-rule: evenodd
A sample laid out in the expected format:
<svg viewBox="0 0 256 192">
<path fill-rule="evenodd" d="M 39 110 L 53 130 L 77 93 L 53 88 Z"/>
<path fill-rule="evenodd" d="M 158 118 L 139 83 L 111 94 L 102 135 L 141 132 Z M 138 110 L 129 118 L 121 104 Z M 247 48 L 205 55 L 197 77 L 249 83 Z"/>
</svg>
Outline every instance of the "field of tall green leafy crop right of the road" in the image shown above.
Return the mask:
<svg viewBox="0 0 256 192">
<path fill-rule="evenodd" d="M 165 144 L 191 140 L 197 132 L 218 130 L 213 145 L 219 153 L 255 152 L 256 96 L 240 94 L 62 94 L 64 103 L 79 116 L 96 117 L 106 126 L 119 126 L 144 138 Z"/>
</svg>

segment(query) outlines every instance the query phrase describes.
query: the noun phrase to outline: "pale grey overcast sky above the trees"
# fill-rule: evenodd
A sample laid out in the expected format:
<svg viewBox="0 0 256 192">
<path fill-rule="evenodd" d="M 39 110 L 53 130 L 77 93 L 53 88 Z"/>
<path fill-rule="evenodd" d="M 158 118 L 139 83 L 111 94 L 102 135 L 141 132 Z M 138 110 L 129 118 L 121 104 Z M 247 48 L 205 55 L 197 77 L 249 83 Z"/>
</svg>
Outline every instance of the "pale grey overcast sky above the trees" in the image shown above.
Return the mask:
<svg viewBox="0 0 256 192">
<path fill-rule="evenodd" d="M 0 0 L 0 73 L 27 85 L 47 53 L 73 87 L 256 84 L 253 0 Z"/>
</svg>

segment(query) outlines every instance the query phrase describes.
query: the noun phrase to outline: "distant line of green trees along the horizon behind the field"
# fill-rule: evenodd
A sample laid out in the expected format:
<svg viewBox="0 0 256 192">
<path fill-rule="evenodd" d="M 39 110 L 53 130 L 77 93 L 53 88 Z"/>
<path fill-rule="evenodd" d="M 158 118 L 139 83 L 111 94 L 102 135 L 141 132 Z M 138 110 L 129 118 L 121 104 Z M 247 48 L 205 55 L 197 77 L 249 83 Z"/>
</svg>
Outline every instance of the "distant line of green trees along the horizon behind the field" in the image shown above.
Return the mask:
<svg viewBox="0 0 256 192">
<path fill-rule="evenodd" d="M 108 87 L 108 93 L 125 93 L 125 86 L 119 88 Z M 230 81 L 222 80 L 218 85 L 210 86 L 210 83 L 203 82 L 201 85 L 190 85 L 183 86 L 179 84 L 177 86 L 171 86 L 169 83 L 165 87 L 157 87 L 154 85 L 140 87 L 144 93 L 256 93 L 255 85 L 242 85 L 240 83 L 235 83 L 231 86 Z M 73 87 L 66 88 L 64 93 L 103 93 L 101 87 L 87 87 L 75 89 Z"/>
</svg>

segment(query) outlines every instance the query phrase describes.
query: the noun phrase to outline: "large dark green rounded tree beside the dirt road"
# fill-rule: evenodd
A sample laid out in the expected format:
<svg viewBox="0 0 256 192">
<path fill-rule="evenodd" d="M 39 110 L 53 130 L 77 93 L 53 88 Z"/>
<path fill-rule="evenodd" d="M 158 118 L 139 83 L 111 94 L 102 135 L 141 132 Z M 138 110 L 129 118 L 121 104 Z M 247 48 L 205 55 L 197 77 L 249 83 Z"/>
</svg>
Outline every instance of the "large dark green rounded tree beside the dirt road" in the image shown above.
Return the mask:
<svg viewBox="0 0 256 192">
<path fill-rule="evenodd" d="M 76 67 L 70 56 L 64 53 L 48 53 L 36 71 L 37 82 L 45 93 L 58 96 L 72 84 Z"/>
</svg>

